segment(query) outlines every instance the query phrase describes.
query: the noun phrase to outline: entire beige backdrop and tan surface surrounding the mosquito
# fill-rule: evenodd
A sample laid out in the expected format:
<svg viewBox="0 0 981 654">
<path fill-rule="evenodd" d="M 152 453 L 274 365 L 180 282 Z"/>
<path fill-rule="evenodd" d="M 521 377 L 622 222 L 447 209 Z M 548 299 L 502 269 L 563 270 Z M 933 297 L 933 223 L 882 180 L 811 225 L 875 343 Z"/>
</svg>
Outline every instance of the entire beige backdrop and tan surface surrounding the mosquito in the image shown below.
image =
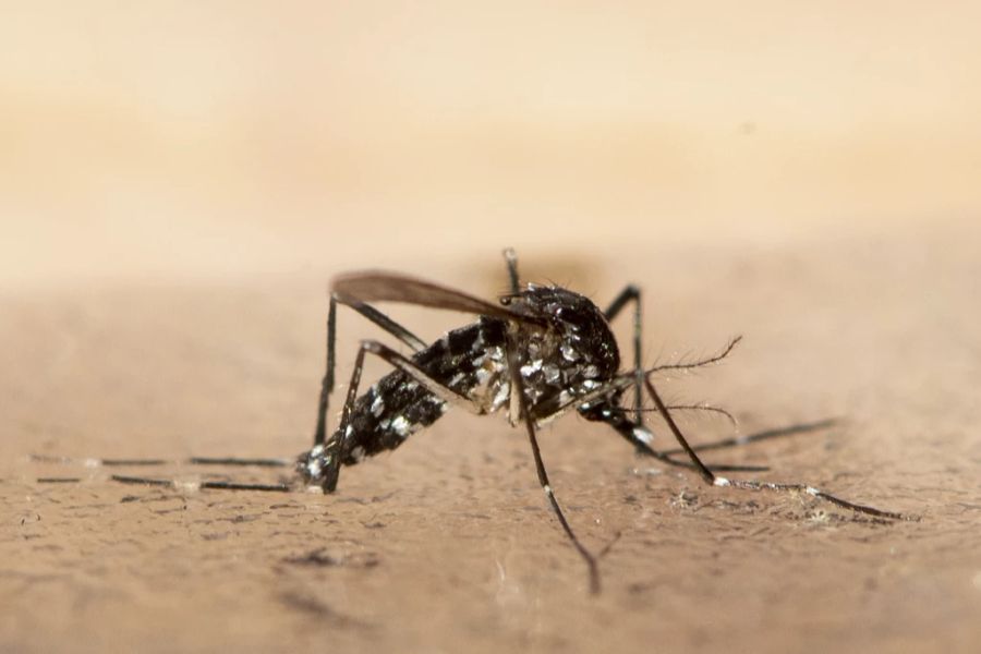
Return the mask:
<svg viewBox="0 0 981 654">
<path fill-rule="evenodd" d="M 977 3 L 0 14 L 0 649 L 977 651 Z M 673 398 L 747 434 L 845 419 L 715 460 L 923 520 L 707 491 L 569 417 L 559 498 L 591 548 L 621 533 L 591 598 L 502 420 L 331 497 L 25 460 L 299 452 L 330 275 L 493 295 L 505 245 L 601 303 L 641 283 L 649 363 L 746 335 Z M 374 332 L 341 329 L 350 362 Z"/>
</svg>

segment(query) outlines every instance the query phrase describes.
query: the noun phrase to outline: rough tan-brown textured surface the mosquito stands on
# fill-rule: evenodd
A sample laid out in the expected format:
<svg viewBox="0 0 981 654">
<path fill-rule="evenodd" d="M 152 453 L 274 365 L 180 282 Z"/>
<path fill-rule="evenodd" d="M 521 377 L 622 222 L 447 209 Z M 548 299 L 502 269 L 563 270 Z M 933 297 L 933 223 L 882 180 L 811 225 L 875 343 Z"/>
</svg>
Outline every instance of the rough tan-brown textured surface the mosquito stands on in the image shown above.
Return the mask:
<svg viewBox="0 0 981 654">
<path fill-rule="evenodd" d="M 579 262 L 525 253 L 531 276 L 601 301 L 642 282 L 649 362 L 746 335 L 722 366 L 662 383 L 668 397 L 725 405 L 743 434 L 844 419 L 712 460 L 922 516 L 877 524 L 705 488 L 568 416 L 542 437 L 558 497 L 594 550 L 620 535 L 598 597 L 524 436 L 499 416 L 450 412 L 326 497 L 129 487 L 24 460 L 299 452 L 322 374 L 322 278 L 9 293 L 0 649 L 977 651 L 979 250 L 964 229 Z M 491 294 L 505 286 L 497 256 L 411 271 Z M 408 315 L 431 338 L 461 319 Z M 342 353 L 372 331 L 348 314 L 340 325 Z M 629 320 L 617 329 L 625 338 Z M 682 425 L 697 440 L 728 434 L 704 416 Z M 85 481 L 34 481 L 46 475 Z"/>
</svg>

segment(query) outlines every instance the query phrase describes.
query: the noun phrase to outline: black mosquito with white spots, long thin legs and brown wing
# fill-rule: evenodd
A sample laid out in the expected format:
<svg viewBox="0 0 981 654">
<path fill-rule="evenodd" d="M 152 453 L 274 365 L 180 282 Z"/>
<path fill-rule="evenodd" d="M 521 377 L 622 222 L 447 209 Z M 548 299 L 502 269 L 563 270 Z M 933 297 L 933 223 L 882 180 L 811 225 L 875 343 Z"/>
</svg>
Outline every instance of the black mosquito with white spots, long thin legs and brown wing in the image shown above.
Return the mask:
<svg viewBox="0 0 981 654">
<path fill-rule="evenodd" d="M 590 299 L 558 286 L 522 283 L 513 250 L 504 252 L 510 281 L 509 291 L 488 302 L 463 291 L 408 275 L 388 271 L 358 271 L 336 277 L 330 286 L 327 314 L 327 366 L 323 378 L 313 447 L 292 465 L 300 483 L 325 493 L 337 488 L 340 470 L 367 457 L 401 446 L 415 432 L 439 420 L 451 408 L 477 415 L 506 411 L 512 426 L 523 426 L 531 446 L 538 483 L 565 535 L 585 561 L 590 589 L 600 590 L 597 556 L 579 540 L 566 518 L 542 460 L 537 431 L 544 424 L 576 411 L 582 417 L 605 423 L 642 456 L 698 472 L 711 486 L 748 491 L 804 493 L 816 499 L 885 520 L 900 520 L 900 513 L 855 504 L 800 483 L 735 480 L 716 474 L 724 471 L 759 471 L 765 468 L 740 465 L 706 467 L 697 448 L 689 445 L 673 411 L 710 410 L 702 405 L 667 405 L 652 382 L 665 370 L 693 368 L 720 361 L 739 342 L 732 339 L 717 355 L 702 361 L 644 368 L 641 337 L 643 314 L 641 291 L 627 286 L 605 310 Z M 412 304 L 477 316 L 439 340 L 427 343 L 402 325 L 375 308 L 377 302 Z M 621 368 L 620 350 L 610 322 L 632 305 L 632 367 Z M 378 341 L 362 340 L 351 372 L 340 422 L 328 435 L 327 414 L 335 389 L 338 306 L 367 318 L 407 346 L 405 355 Z M 361 391 L 362 371 L 367 355 L 376 356 L 393 371 Z M 632 389 L 633 405 L 625 407 Z M 654 403 L 644 408 L 645 395 Z M 654 448 L 654 432 L 644 414 L 653 411 L 680 445 L 678 450 Z M 726 413 L 726 415 L 728 415 Z M 731 417 L 731 416 L 730 416 Z M 803 431 L 826 423 L 804 425 L 784 432 Z M 760 438 L 773 434 L 761 434 Z M 732 439 L 722 446 L 737 445 Z M 710 449 L 703 446 L 698 449 Z M 678 460 L 683 453 L 687 461 Z M 281 459 L 192 459 L 192 463 L 281 465 Z M 158 461 L 111 461 L 106 464 L 158 463 Z M 170 485 L 165 480 L 113 475 L 124 483 Z M 57 480 L 49 480 L 57 481 Z M 207 488 L 290 491 L 290 484 L 238 484 L 205 482 Z"/>
</svg>

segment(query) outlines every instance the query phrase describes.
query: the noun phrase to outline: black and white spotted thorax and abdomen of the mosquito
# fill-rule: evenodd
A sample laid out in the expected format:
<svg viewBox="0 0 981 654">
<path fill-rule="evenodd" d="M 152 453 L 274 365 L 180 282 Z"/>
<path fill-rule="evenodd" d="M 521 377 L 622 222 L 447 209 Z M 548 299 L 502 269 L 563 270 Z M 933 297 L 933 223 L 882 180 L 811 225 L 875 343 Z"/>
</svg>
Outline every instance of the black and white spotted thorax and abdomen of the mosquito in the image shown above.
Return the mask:
<svg viewBox="0 0 981 654">
<path fill-rule="evenodd" d="M 512 404 L 510 343 L 520 361 L 525 405 L 538 423 L 576 407 L 576 398 L 617 374 L 616 339 L 589 299 L 557 287 L 529 284 L 501 302 L 538 318 L 542 325 L 482 316 L 420 350 L 412 362 L 465 398 L 476 412 L 494 413 Z M 448 409 L 449 404 L 420 380 L 393 371 L 354 401 L 347 427 L 339 427 L 324 445 L 301 456 L 298 469 L 307 483 L 319 484 L 329 467 L 352 465 L 364 457 L 395 449 Z M 512 422 L 518 417 L 509 412 Z"/>
</svg>

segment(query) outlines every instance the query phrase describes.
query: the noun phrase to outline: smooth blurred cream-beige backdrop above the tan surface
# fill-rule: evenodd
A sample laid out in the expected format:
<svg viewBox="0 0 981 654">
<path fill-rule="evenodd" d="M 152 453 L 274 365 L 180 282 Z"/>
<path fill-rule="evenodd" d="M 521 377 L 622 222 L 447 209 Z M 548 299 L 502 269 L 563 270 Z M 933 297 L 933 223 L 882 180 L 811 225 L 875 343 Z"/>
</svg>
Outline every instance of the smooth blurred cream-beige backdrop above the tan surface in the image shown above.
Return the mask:
<svg viewBox="0 0 981 654">
<path fill-rule="evenodd" d="M 0 290 L 981 214 L 977 2 L 0 13 Z"/>
</svg>

